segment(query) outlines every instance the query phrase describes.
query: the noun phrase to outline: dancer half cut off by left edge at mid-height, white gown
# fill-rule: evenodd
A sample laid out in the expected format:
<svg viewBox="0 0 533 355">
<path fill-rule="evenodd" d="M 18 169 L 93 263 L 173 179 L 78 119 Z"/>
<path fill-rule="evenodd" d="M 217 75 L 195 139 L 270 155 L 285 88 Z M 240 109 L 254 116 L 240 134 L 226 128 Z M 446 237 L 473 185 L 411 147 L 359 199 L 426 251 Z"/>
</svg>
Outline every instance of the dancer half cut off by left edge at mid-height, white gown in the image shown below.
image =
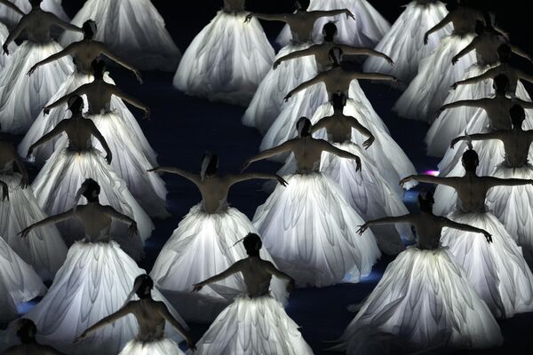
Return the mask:
<svg viewBox="0 0 533 355">
<path fill-rule="evenodd" d="M 14 172 L 15 166 L 19 173 Z M 67 257 L 67 246 L 54 226 L 31 233 L 25 241 L 17 235 L 24 226 L 46 216 L 32 188 L 28 187 L 28 170 L 24 162 L 1 133 L 0 180 L 4 186 L 3 198 L 0 198 L 0 238 L 4 238 L 26 263 L 31 264 L 43 280 L 53 280 Z M 4 198 L 7 196 L 9 198 Z"/>
</svg>

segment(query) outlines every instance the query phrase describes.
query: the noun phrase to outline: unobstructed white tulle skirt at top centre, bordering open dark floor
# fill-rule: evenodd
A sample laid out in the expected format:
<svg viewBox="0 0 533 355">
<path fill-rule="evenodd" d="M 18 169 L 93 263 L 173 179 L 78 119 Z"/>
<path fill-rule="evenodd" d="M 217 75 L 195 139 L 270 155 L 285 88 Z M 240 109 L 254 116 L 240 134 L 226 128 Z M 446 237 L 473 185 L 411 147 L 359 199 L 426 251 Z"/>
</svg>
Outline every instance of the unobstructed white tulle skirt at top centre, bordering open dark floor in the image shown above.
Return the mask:
<svg viewBox="0 0 533 355">
<path fill-rule="evenodd" d="M 195 37 L 179 63 L 174 86 L 189 95 L 248 106 L 272 67 L 274 49 L 248 12 L 223 12 Z"/>
</svg>

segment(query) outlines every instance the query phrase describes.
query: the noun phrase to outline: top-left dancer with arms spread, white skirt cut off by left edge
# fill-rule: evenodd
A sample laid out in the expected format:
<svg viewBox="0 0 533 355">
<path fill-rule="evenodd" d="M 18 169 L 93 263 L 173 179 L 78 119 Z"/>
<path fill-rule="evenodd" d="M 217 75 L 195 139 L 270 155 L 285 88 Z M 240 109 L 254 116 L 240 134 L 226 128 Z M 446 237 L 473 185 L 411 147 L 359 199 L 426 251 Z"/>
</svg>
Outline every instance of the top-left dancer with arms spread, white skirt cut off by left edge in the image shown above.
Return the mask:
<svg viewBox="0 0 533 355">
<path fill-rule="evenodd" d="M 0 72 L 0 124 L 5 132 L 25 133 L 44 104 L 58 91 L 60 85 L 72 73 L 72 61 L 62 59 L 30 79 L 26 76 L 36 62 L 61 51 L 62 48 L 50 38 L 50 28 L 57 26 L 73 31 L 81 28 L 60 20 L 51 12 L 39 7 L 42 0 L 30 0 L 31 12 L 20 20 L 4 42 L 4 53 L 10 54 L 9 44 L 25 30 L 25 41 L 13 53 L 4 70 Z M 23 101 L 20 98 L 25 98 Z"/>
</svg>

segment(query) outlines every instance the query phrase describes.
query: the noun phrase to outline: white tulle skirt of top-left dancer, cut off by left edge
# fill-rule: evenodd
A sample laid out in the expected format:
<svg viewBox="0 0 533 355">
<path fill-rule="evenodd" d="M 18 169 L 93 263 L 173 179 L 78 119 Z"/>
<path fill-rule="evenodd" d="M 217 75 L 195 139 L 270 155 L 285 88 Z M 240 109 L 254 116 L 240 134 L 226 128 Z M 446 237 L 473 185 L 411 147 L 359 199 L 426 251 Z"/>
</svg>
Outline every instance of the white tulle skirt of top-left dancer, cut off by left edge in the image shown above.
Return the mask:
<svg viewBox="0 0 533 355">
<path fill-rule="evenodd" d="M 62 49 L 53 41 L 26 41 L 11 54 L 12 59 L 0 72 L 0 125 L 4 132 L 26 133 L 46 102 L 73 72 L 72 59 L 62 58 L 27 75 L 34 64 Z"/>
</svg>

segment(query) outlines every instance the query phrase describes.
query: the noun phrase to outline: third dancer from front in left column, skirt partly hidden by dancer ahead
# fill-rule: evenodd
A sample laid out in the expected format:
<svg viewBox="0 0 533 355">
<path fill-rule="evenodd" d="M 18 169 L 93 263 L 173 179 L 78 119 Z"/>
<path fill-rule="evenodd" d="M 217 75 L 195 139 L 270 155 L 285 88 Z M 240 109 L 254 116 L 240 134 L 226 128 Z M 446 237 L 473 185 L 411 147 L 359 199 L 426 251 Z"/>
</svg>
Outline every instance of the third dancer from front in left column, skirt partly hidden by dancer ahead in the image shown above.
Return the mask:
<svg viewBox="0 0 533 355">
<path fill-rule="evenodd" d="M 123 179 L 107 165 L 112 162 L 113 154 L 94 122 L 84 118 L 82 114 L 84 99 L 72 96 L 68 100 L 68 107 L 72 117 L 58 123 L 53 130 L 29 147 L 28 155 L 31 155 L 37 146 L 49 139 L 62 133 L 66 133 L 68 137 L 68 145 L 56 150 L 37 175 L 32 185 L 36 199 L 46 212 L 56 215 L 73 206 L 77 186 L 81 185 L 84 179 L 91 177 L 99 181 L 102 186 L 102 202 L 124 215 L 131 216 L 138 222 L 139 236 L 134 240 L 128 237 L 128 231 L 123 228 L 123 225 L 113 225 L 112 233 L 126 252 L 133 257 L 139 257 L 142 255 L 142 241 L 149 238 L 154 225 L 139 203 L 131 196 Z M 100 145 L 103 146 L 107 154 L 107 164 L 99 150 L 92 147 L 91 138 L 99 140 Z M 60 224 L 60 231 L 68 244 L 72 244 L 84 235 L 83 226 L 76 223 L 76 220 Z"/>
</svg>

